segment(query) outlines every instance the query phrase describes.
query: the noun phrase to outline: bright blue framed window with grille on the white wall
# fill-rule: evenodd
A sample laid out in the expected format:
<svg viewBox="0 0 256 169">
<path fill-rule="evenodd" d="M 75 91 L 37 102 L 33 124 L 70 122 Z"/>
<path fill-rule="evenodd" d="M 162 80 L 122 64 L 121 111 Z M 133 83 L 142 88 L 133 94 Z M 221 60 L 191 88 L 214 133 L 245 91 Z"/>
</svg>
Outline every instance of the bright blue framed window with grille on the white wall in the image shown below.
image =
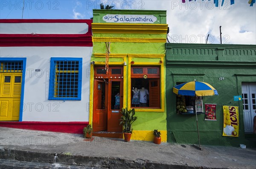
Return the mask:
<svg viewBox="0 0 256 169">
<path fill-rule="evenodd" d="M 52 57 L 49 100 L 81 100 L 82 58 Z"/>
</svg>

